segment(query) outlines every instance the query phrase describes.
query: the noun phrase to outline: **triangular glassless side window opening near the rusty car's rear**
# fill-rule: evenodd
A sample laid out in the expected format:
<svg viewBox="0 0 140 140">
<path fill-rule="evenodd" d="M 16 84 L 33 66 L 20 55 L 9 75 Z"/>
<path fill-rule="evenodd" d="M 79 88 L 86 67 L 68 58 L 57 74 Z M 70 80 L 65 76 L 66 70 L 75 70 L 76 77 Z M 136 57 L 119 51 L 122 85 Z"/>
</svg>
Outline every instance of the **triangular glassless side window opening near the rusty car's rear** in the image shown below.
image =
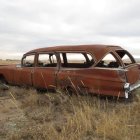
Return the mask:
<svg viewBox="0 0 140 140">
<path fill-rule="evenodd" d="M 111 53 L 109 53 L 96 65 L 96 67 L 119 68 L 120 63 Z"/>
</svg>

